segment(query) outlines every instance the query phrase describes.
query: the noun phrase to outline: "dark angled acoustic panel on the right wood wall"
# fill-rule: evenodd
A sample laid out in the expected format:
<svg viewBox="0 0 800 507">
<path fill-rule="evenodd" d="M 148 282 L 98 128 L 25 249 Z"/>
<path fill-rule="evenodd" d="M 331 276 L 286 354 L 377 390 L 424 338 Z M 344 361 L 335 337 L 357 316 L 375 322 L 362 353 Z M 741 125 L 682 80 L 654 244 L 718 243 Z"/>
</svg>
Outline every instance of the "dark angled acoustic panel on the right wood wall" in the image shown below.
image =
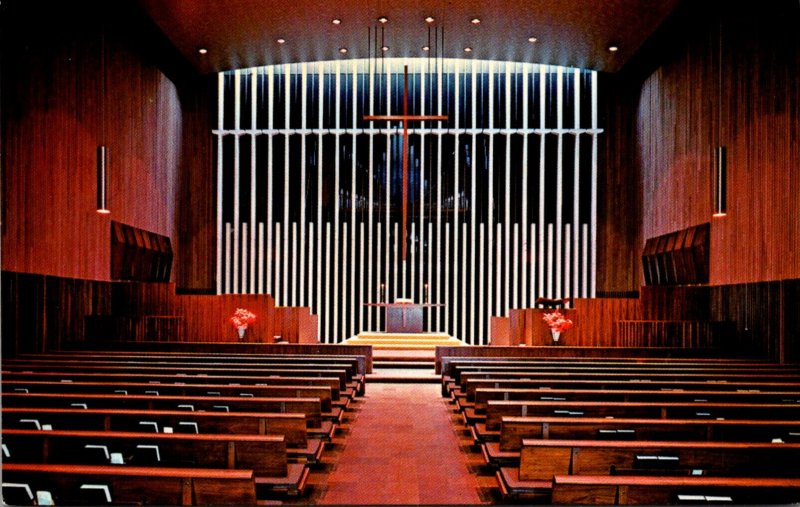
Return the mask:
<svg viewBox="0 0 800 507">
<path fill-rule="evenodd" d="M 642 251 L 645 285 L 708 283 L 711 224 L 647 238 Z"/>
</svg>

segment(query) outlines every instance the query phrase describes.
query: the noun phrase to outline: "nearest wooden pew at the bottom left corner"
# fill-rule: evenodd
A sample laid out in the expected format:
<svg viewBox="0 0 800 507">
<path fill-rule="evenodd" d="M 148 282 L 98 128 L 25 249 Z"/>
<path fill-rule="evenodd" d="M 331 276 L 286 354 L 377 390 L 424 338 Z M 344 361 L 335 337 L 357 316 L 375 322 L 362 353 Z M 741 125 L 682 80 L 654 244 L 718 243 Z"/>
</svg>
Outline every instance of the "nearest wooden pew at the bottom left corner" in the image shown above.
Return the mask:
<svg viewBox="0 0 800 507">
<path fill-rule="evenodd" d="M 252 470 L 3 463 L 9 483 L 49 491 L 56 505 L 91 504 L 84 485 L 107 486 L 109 503 L 154 505 L 256 505 Z M 96 493 L 103 494 L 100 490 Z"/>
</svg>

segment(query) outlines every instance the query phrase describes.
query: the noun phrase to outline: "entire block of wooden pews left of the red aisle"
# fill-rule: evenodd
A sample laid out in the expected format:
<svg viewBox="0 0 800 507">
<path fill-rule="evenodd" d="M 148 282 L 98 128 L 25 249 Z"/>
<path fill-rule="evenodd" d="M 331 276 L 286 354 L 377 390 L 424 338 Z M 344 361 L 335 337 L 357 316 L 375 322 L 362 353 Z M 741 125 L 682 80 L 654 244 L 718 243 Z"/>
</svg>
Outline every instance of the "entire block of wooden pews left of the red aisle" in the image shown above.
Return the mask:
<svg viewBox="0 0 800 507">
<path fill-rule="evenodd" d="M 257 505 L 305 494 L 365 358 L 71 351 L 3 359 L 6 504 Z"/>
</svg>

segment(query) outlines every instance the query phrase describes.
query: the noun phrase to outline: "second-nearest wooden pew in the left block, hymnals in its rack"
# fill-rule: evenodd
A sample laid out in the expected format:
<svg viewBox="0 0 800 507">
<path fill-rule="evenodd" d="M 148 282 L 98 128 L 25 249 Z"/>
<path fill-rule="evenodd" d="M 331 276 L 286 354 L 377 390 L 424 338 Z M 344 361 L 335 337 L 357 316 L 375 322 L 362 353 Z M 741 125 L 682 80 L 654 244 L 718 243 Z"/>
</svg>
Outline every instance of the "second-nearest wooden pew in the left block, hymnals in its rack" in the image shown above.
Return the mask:
<svg viewBox="0 0 800 507">
<path fill-rule="evenodd" d="M 287 462 L 282 435 L 7 428 L 2 435 L 11 463 L 252 469 L 257 487 L 289 494 L 303 492 L 309 473 L 305 465 Z"/>
</svg>

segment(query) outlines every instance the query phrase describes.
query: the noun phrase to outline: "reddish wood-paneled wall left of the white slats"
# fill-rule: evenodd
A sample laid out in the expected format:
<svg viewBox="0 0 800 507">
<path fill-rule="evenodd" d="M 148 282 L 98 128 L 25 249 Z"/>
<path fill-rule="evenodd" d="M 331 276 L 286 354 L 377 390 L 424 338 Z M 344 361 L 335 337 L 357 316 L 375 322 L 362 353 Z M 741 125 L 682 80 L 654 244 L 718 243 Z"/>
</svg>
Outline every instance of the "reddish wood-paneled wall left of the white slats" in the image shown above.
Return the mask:
<svg viewBox="0 0 800 507">
<path fill-rule="evenodd" d="M 214 242 L 204 227 L 213 219 L 202 215 L 213 193 L 190 204 L 210 158 L 205 82 L 190 79 L 188 64 L 134 2 L 34 0 L 0 9 L 3 269 L 110 279 L 110 218 L 95 212 L 96 152 L 105 145 L 111 217 L 170 237 L 175 276 L 212 286 L 195 266 L 211 269 Z M 179 218 L 188 240 L 177 241 Z"/>
</svg>

